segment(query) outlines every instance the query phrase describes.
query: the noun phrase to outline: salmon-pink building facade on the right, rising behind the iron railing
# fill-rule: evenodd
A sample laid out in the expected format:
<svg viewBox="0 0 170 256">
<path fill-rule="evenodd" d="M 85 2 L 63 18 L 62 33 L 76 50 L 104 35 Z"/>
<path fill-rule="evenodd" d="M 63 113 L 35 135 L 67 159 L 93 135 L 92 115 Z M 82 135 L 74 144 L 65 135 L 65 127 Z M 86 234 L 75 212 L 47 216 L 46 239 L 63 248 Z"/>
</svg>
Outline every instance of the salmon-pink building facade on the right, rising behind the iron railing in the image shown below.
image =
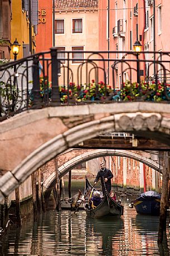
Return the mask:
<svg viewBox="0 0 170 256">
<path fill-rule="evenodd" d="M 116 51 L 132 51 L 136 40 L 142 44 L 143 51 L 162 52 L 169 51 L 168 43 L 168 15 L 170 4 L 168 0 L 99 0 L 99 50 L 110 50 L 109 59 L 135 59 L 135 55 L 116 53 Z M 161 54 L 141 53 L 139 59 L 161 59 Z M 167 57 L 166 57 L 167 58 Z M 114 62 L 114 61 L 113 61 Z M 113 82 L 112 73 L 113 62 L 107 62 L 107 82 L 120 89 L 123 82 L 132 79 L 137 81 L 137 72 L 130 71 L 124 67 L 124 72 L 120 70 L 120 65 L 114 66 L 115 80 Z M 108 68 L 109 64 L 109 68 Z M 137 68 L 137 62 L 130 63 L 130 67 Z M 148 73 L 149 68 L 149 73 Z M 140 80 L 145 80 L 149 75 L 151 79 L 161 73 L 161 69 L 154 70 L 149 63 L 140 63 Z"/>
</svg>

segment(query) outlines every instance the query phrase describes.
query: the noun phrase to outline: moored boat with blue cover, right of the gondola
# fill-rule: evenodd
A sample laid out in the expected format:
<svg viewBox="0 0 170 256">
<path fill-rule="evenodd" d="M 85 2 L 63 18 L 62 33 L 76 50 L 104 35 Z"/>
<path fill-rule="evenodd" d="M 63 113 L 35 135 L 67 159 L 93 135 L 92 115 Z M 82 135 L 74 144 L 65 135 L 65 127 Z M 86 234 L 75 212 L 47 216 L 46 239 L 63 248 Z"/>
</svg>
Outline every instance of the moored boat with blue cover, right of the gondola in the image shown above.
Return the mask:
<svg viewBox="0 0 170 256">
<path fill-rule="evenodd" d="M 130 208 L 135 207 L 139 214 L 159 215 L 160 214 L 161 194 L 155 191 L 147 191 L 140 194 L 140 197 L 131 201 Z"/>
</svg>

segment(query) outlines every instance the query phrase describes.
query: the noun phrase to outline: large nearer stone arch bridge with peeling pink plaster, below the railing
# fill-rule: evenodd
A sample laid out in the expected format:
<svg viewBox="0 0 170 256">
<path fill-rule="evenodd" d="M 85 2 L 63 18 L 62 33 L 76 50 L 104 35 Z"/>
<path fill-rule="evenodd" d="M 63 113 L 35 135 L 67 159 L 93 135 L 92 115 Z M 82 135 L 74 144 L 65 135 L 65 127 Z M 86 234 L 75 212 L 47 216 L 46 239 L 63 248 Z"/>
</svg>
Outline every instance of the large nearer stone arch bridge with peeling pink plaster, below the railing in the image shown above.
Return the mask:
<svg viewBox="0 0 170 256">
<path fill-rule="evenodd" d="M 170 106 L 112 103 L 48 107 L 1 123 L 0 199 L 38 167 L 65 150 L 104 132 L 128 132 L 170 145 Z"/>
</svg>

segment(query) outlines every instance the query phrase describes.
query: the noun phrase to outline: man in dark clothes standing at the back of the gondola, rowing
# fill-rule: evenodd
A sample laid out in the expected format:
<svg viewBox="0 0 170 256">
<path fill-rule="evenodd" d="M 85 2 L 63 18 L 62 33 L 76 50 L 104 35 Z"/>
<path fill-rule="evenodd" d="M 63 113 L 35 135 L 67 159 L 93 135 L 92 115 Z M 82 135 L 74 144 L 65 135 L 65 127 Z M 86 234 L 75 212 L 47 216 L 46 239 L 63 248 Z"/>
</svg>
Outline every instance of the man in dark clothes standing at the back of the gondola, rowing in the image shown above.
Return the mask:
<svg viewBox="0 0 170 256">
<path fill-rule="evenodd" d="M 106 169 L 104 163 L 101 162 L 100 170 L 98 171 L 98 174 L 96 175 L 94 184 L 96 184 L 98 182 L 98 180 L 100 179 L 103 194 L 105 193 L 105 189 L 108 191 L 108 193 L 110 193 L 112 178 L 113 178 L 113 174 L 111 173 L 111 171 L 109 169 Z"/>
</svg>

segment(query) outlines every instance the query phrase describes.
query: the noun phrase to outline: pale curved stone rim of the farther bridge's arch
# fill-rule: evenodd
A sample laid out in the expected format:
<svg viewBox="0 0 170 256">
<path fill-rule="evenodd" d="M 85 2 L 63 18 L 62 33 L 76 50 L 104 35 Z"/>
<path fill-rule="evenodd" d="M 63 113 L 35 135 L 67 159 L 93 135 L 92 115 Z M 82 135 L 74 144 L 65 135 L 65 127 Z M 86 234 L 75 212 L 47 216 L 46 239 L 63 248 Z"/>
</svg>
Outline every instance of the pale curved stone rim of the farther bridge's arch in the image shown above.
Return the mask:
<svg viewBox="0 0 170 256">
<path fill-rule="evenodd" d="M 99 149 L 99 150 L 91 150 L 90 152 L 85 152 L 82 155 L 76 156 L 72 158 L 70 161 L 67 161 L 64 165 L 59 167 L 59 178 L 68 173 L 69 170 L 73 169 L 77 164 L 81 164 L 82 162 L 89 161 L 91 159 L 95 159 L 97 157 L 104 156 L 124 156 L 129 157 L 131 159 L 137 160 L 139 162 L 143 162 L 143 164 L 148 165 L 154 170 L 159 170 L 159 164 L 157 162 L 148 159 L 147 157 L 141 156 L 138 153 L 134 153 L 128 150 L 107 150 L 107 149 Z M 43 184 L 43 190 L 46 190 L 53 186 L 56 179 L 55 171 L 45 180 Z"/>
</svg>

